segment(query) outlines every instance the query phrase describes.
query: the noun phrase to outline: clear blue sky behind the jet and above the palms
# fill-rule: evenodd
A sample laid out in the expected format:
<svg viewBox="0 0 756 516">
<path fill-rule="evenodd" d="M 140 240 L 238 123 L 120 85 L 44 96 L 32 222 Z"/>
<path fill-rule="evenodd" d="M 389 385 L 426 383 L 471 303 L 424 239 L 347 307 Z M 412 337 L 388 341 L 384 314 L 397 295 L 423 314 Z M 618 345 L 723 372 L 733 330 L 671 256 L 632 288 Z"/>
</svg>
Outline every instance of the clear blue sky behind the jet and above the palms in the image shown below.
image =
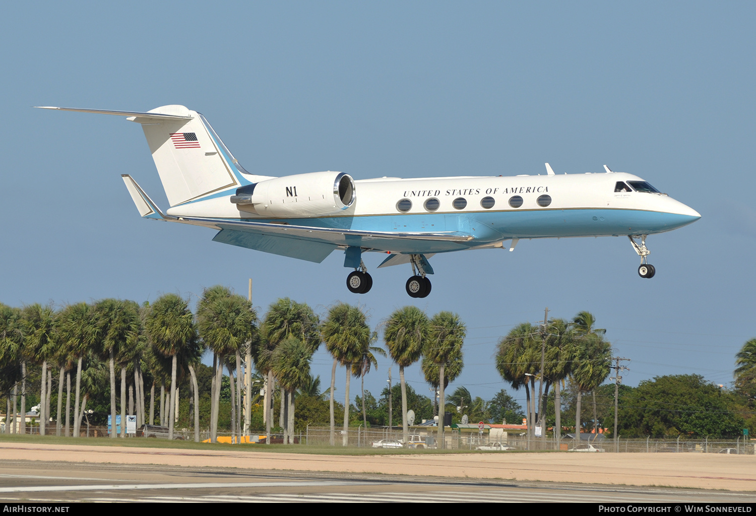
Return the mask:
<svg viewBox="0 0 756 516">
<path fill-rule="evenodd" d="M 752 3 L 101 2 L 6 5 L 0 30 L 0 301 L 197 300 L 222 283 L 261 312 L 279 297 L 321 314 L 359 303 L 377 325 L 417 304 L 468 327 L 455 385 L 492 397 L 500 336 L 592 312 L 624 381 L 695 373 L 732 381 L 756 336 Z M 200 111 L 249 171 L 289 175 L 640 175 L 702 214 L 651 236 L 652 280 L 627 239 L 523 241 L 432 258 L 345 288 L 334 252 L 311 264 L 212 243 L 199 227 L 141 220 L 120 175 L 166 198 L 138 125 L 32 106 Z M 368 255 L 369 268 L 380 255 Z M 327 383 L 330 360 L 314 359 Z M 376 393 L 389 363 L 366 379 Z M 392 369 L 395 378 L 398 368 Z M 420 367 L 407 379 L 429 394 Z M 343 370 L 337 392 L 343 392 Z M 354 384 L 353 384 L 354 386 Z M 454 388 L 454 385 L 452 386 Z M 352 390 L 354 394 L 355 389 Z M 524 404 L 524 393 L 513 393 Z"/>
</svg>

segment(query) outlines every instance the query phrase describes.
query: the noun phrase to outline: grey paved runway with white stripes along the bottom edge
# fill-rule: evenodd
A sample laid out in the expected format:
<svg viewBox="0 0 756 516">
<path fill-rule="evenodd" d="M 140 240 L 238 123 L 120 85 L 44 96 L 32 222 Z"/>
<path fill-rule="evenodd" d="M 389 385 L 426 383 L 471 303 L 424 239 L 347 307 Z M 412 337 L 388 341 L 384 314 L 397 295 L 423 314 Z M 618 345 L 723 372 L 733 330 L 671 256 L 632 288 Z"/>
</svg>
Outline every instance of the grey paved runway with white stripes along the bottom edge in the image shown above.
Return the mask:
<svg viewBox="0 0 756 516">
<path fill-rule="evenodd" d="M 406 475 L 0 460 L 4 502 L 700 502 L 756 493 Z"/>
</svg>

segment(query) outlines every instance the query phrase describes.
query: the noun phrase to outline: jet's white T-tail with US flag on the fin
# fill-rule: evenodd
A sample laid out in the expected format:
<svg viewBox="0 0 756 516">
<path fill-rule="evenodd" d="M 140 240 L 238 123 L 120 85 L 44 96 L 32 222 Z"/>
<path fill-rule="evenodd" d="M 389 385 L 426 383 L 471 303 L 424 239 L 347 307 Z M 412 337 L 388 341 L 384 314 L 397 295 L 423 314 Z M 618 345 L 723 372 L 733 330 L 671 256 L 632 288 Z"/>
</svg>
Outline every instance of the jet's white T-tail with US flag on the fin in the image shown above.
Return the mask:
<svg viewBox="0 0 756 516">
<path fill-rule="evenodd" d="M 171 206 L 267 178 L 249 175 L 205 117 L 184 106 L 156 107 L 147 113 L 66 107 L 44 109 L 127 116 L 132 122 L 140 123 Z"/>
</svg>

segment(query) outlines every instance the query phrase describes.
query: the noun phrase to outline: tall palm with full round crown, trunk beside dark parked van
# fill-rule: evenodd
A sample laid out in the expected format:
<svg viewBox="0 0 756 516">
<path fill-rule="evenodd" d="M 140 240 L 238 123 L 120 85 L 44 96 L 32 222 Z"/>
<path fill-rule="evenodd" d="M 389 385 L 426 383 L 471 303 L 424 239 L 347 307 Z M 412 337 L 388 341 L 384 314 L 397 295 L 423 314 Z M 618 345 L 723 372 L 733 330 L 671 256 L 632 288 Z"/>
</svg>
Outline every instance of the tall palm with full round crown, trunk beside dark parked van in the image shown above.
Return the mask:
<svg viewBox="0 0 756 516">
<path fill-rule="evenodd" d="M 172 358 L 168 438 L 173 439 L 178 355 L 183 354 L 187 348 L 196 348 L 197 330 L 194 327 L 194 315 L 189 310 L 187 301 L 178 295 L 162 295 L 151 308 L 145 320 L 147 333 L 157 350 L 163 356 Z"/>
</svg>

